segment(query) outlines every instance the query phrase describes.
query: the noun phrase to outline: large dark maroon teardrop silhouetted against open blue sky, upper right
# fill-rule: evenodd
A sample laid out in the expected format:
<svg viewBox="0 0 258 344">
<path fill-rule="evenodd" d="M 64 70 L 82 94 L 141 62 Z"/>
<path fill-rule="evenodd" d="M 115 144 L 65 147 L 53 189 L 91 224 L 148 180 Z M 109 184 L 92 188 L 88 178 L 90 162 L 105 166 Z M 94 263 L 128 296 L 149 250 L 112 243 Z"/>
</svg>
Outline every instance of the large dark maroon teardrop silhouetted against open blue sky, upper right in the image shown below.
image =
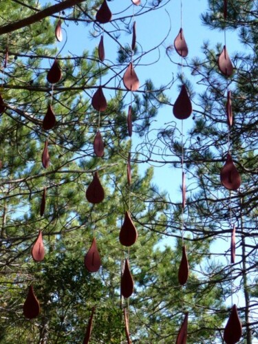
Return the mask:
<svg viewBox="0 0 258 344">
<path fill-rule="evenodd" d="M 178 118 L 178 120 L 186 120 L 186 118 L 191 116 L 192 110 L 191 100 L 187 94 L 186 86 L 183 84 L 180 94 L 177 100 L 175 100 L 173 114 L 175 118 Z"/>
</svg>

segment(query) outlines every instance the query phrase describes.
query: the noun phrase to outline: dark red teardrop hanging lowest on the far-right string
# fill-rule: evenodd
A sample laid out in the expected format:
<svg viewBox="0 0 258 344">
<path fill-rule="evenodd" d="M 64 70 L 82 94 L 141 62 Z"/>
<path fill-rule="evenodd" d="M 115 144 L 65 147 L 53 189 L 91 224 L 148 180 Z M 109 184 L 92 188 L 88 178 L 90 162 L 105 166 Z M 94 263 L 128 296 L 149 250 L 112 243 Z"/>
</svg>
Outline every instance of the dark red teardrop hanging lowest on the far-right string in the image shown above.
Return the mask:
<svg viewBox="0 0 258 344">
<path fill-rule="evenodd" d="M 242 325 L 237 314 L 237 306 L 233 305 L 228 322 L 224 330 L 224 341 L 226 344 L 235 344 L 240 341 L 242 335 Z"/>
</svg>

